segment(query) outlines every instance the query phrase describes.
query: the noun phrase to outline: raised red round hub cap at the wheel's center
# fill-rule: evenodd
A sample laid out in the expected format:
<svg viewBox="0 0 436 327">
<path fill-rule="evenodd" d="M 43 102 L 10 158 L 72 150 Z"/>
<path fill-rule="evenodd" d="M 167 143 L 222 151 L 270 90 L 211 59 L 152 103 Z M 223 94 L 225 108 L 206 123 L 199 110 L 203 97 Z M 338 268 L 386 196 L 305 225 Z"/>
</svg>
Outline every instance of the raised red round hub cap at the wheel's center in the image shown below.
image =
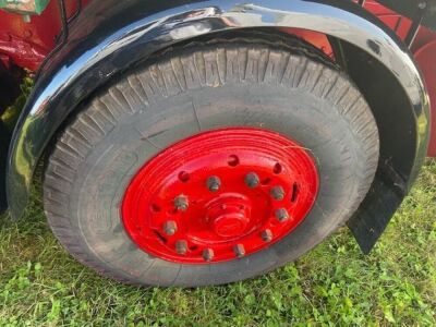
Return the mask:
<svg viewBox="0 0 436 327">
<path fill-rule="evenodd" d="M 243 195 L 221 194 L 207 205 L 207 219 L 214 232 L 221 238 L 244 233 L 250 222 L 251 203 Z"/>
</svg>

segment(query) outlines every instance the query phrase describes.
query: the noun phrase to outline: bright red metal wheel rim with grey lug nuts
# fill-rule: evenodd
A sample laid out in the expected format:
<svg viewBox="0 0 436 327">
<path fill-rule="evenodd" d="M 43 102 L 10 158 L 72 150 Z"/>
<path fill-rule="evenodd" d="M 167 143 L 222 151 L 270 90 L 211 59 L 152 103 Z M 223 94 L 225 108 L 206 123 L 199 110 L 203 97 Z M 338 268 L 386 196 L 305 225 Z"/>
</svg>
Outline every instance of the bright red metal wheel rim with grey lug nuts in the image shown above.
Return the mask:
<svg viewBox="0 0 436 327">
<path fill-rule="evenodd" d="M 312 156 L 278 133 L 205 132 L 155 156 L 131 181 L 122 219 L 145 252 L 206 264 L 262 251 L 288 235 L 318 191 Z"/>
</svg>

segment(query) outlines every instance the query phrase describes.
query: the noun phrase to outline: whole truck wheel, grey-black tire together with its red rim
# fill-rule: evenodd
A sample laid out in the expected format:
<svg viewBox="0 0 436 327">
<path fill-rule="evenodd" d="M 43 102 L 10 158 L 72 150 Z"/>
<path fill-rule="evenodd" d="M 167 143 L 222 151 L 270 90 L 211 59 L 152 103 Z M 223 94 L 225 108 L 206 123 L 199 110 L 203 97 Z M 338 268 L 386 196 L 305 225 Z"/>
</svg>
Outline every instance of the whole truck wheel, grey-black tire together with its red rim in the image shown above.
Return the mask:
<svg viewBox="0 0 436 327">
<path fill-rule="evenodd" d="M 342 226 L 378 147 L 363 96 L 304 41 L 193 43 L 84 104 L 53 143 L 45 210 L 63 246 L 104 276 L 229 283 Z"/>
</svg>

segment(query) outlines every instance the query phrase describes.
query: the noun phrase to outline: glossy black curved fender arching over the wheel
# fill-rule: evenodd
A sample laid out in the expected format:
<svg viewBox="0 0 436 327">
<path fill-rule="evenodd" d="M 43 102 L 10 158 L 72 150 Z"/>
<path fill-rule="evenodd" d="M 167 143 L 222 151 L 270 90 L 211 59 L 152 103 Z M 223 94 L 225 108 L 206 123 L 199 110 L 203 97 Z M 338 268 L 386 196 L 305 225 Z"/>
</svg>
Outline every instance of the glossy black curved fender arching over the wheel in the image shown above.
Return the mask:
<svg viewBox="0 0 436 327">
<path fill-rule="evenodd" d="M 178 43 L 261 27 L 312 29 L 336 39 L 351 76 L 367 93 L 370 105 L 380 109 L 375 116 L 382 134 L 387 135 L 382 141 L 380 165 L 367 198 L 349 223 L 368 251 L 425 158 L 428 97 L 408 48 L 376 17 L 343 0 L 94 1 L 71 26 L 66 46 L 45 66 L 15 128 L 7 174 L 12 216 L 23 214 L 34 170 L 50 140 L 99 86 Z M 353 69 L 355 63 L 361 69 Z M 362 69 L 366 66 L 373 71 Z M 376 78 L 384 78 L 383 83 Z M 380 90 L 398 99 L 390 100 Z M 396 112 L 396 108 L 401 110 Z M 396 116 L 403 122 L 397 124 Z M 402 140 L 401 147 L 392 145 L 396 140 Z"/>
</svg>

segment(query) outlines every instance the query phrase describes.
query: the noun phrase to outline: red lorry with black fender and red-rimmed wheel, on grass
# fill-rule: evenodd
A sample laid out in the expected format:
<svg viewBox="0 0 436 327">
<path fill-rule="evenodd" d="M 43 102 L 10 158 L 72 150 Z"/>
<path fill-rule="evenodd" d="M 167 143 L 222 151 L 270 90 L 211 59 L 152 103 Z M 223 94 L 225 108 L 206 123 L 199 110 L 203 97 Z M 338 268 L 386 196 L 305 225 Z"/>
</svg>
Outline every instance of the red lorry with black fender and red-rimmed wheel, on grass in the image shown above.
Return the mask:
<svg viewBox="0 0 436 327">
<path fill-rule="evenodd" d="M 346 225 L 368 253 L 436 156 L 434 0 L 0 8 L 0 209 L 40 169 L 55 235 L 121 282 L 252 278 Z"/>
</svg>

